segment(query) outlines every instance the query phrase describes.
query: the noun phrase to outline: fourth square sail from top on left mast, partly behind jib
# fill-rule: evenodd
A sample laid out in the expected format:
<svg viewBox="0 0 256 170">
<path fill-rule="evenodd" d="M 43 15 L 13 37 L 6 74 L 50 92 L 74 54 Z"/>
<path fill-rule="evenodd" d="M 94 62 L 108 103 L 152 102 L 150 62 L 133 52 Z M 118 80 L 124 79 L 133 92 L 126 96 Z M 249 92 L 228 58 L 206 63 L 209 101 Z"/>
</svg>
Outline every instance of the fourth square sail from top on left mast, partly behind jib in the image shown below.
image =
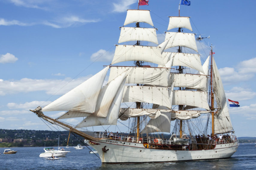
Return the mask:
<svg viewBox="0 0 256 170">
<path fill-rule="evenodd" d="M 129 67 L 110 67 L 108 81 L 112 81 L 118 75 L 125 72 Z M 168 75 L 168 77 L 167 77 Z M 151 84 L 155 86 L 167 87 L 169 79 L 169 69 L 154 67 L 134 67 L 126 77 L 126 83 Z"/>
</svg>

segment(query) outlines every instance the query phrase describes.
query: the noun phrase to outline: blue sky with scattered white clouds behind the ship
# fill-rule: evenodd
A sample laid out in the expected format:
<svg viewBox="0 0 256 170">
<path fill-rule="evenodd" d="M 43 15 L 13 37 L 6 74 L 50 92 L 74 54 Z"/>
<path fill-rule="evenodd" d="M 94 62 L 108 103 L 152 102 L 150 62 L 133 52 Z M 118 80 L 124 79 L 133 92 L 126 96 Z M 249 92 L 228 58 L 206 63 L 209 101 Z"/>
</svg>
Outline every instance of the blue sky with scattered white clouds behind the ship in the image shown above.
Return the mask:
<svg viewBox="0 0 256 170">
<path fill-rule="evenodd" d="M 0 0 L 0 129 L 49 130 L 33 112 L 109 65 L 127 9 L 137 0 Z M 150 0 L 158 41 L 179 0 Z M 256 137 L 256 1 L 191 0 L 180 15 L 190 16 L 202 63 L 213 52 L 238 137 Z M 144 25 L 143 25 L 144 26 Z M 146 25 L 145 27 L 150 27 Z M 190 32 L 189 30 L 186 30 Z M 63 112 L 51 115 L 57 118 Z M 69 123 L 79 123 L 76 119 Z"/>
</svg>

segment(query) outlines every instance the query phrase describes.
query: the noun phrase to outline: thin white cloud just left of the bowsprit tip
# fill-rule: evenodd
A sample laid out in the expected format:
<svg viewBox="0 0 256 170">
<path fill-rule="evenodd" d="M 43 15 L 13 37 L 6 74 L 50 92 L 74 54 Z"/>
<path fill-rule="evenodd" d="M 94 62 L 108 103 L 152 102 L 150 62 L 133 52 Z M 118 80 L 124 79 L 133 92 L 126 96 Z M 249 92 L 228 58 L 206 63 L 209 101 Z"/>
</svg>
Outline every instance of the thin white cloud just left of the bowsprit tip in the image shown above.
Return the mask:
<svg viewBox="0 0 256 170">
<path fill-rule="evenodd" d="M 51 101 L 32 101 L 32 102 L 25 102 L 24 104 L 18 104 L 18 103 L 8 103 L 7 107 L 10 109 L 34 109 L 37 106 L 41 106 L 42 104 L 47 105 L 51 103 Z"/>
</svg>

